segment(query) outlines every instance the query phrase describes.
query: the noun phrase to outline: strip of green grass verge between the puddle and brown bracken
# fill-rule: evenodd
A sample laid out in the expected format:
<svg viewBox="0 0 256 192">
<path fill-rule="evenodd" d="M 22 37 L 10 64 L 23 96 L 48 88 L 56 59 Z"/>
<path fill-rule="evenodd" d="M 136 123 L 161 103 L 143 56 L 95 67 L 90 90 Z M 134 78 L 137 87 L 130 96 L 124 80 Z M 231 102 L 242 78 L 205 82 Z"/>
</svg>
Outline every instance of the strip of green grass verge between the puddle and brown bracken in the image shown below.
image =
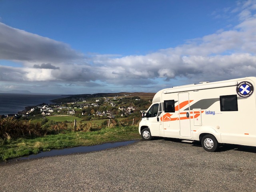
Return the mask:
<svg viewBox="0 0 256 192">
<path fill-rule="evenodd" d="M 137 126 L 104 128 L 91 132 L 66 131 L 56 135 L 38 138 L 18 138 L 2 142 L 0 145 L 0 160 L 7 160 L 29 154 L 36 154 L 51 149 L 61 149 L 75 146 L 92 146 L 108 142 L 120 142 L 139 139 Z"/>
</svg>

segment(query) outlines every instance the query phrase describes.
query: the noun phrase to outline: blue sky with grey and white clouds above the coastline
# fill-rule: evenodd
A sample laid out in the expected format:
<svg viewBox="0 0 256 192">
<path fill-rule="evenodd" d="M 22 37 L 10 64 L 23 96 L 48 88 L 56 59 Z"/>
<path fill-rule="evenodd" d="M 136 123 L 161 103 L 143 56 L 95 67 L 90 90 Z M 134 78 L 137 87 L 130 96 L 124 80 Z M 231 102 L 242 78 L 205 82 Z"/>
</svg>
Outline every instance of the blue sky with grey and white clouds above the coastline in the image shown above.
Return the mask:
<svg viewBox="0 0 256 192">
<path fill-rule="evenodd" d="M 0 90 L 158 92 L 256 76 L 256 0 L 0 0 Z"/>
</svg>

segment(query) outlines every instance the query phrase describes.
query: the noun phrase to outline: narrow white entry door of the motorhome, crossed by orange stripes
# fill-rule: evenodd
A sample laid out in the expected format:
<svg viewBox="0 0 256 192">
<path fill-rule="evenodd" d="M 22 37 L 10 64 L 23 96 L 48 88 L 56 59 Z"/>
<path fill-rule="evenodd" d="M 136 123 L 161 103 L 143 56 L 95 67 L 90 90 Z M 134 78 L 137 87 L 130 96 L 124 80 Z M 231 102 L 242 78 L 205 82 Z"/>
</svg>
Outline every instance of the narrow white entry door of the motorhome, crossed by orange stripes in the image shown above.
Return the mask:
<svg viewBox="0 0 256 192">
<path fill-rule="evenodd" d="M 178 98 L 179 98 L 179 115 L 180 115 L 180 136 L 191 137 L 190 111 L 189 110 L 184 111 L 184 109 L 186 108 L 190 109 L 189 94 L 180 93 L 178 94 Z"/>
</svg>

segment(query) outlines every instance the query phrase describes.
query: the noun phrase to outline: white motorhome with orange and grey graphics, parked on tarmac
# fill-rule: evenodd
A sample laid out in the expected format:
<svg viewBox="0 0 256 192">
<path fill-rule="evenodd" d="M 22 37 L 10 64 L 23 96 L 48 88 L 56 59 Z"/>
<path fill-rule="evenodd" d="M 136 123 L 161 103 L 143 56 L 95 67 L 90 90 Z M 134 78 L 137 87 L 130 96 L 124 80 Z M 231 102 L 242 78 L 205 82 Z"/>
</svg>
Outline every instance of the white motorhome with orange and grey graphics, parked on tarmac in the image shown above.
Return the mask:
<svg viewBox="0 0 256 192">
<path fill-rule="evenodd" d="M 139 133 L 219 144 L 256 146 L 256 77 L 202 82 L 157 92 L 142 116 Z"/>
</svg>

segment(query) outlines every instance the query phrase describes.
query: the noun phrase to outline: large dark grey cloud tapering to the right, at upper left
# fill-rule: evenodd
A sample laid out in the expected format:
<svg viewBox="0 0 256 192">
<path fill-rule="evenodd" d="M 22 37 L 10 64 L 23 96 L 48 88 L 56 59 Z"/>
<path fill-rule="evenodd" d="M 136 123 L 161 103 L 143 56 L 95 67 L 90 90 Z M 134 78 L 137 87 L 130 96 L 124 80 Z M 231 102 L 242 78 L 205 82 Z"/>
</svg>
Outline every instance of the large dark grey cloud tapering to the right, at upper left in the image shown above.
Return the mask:
<svg viewBox="0 0 256 192">
<path fill-rule="evenodd" d="M 12 28 L 0 22 L 0 59 L 63 62 L 84 56 L 68 44 Z"/>
</svg>

